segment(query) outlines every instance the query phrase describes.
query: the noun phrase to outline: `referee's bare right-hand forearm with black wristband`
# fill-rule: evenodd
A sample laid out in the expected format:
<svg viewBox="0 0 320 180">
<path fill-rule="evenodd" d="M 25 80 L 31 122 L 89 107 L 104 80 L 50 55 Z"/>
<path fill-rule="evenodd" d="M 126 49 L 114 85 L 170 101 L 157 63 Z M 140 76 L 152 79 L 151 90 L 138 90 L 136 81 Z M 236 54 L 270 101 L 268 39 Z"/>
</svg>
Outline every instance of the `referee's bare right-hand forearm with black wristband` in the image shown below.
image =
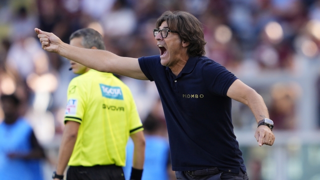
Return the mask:
<svg viewBox="0 0 320 180">
<path fill-rule="evenodd" d="M 132 171 L 130 179 L 141 179 L 145 149 L 145 139 L 143 131 L 141 130 L 134 134 L 131 134 L 130 137 L 134 144 Z"/>
</svg>

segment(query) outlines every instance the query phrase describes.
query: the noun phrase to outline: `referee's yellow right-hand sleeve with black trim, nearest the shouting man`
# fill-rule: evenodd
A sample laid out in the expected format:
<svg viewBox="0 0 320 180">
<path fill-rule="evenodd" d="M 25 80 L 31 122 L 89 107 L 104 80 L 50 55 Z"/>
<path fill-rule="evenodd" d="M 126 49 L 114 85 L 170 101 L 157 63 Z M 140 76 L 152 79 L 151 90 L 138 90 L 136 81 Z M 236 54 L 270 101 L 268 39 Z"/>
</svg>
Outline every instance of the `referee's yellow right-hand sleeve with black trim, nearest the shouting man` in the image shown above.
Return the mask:
<svg viewBox="0 0 320 180">
<path fill-rule="evenodd" d="M 130 93 L 129 133 L 134 134 L 141 130 L 143 130 L 142 122 L 139 117 L 132 94 Z"/>
</svg>

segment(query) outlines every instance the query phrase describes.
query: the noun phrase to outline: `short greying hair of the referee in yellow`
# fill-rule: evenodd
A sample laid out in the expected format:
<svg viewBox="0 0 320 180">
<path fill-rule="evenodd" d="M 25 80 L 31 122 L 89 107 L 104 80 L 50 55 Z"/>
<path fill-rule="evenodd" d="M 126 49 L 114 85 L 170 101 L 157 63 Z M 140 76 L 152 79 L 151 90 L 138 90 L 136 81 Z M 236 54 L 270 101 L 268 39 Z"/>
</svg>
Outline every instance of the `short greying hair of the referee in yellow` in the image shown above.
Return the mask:
<svg viewBox="0 0 320 180">
<path fill-rule="evenodd" d="M 83 45 L 85 48 L 91 48 L 95 46 L 97 49 L 105 50 L 102 35 L 92 28 L 81 28 L 74 31 L 70 35 L 69 40 L 75 37 L 82 37 L 81 45 Z"/>
</svg>

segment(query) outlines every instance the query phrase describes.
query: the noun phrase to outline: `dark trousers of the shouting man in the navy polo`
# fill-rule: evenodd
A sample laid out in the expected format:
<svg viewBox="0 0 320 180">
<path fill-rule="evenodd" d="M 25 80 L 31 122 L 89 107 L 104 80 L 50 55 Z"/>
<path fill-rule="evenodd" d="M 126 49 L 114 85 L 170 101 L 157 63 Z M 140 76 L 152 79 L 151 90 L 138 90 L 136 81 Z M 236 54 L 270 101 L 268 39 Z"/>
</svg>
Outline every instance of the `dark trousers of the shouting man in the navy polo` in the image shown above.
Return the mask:
<svg viewBox="0 0 320 180">
<path fill-rule="evenodd" d="M 175 171 L 178 180 L 248 180 L 246 172 L 240 169 L 238 174 L 219 171 L 214 175 L 189 175 L 187 171 Z"/>
</svg>

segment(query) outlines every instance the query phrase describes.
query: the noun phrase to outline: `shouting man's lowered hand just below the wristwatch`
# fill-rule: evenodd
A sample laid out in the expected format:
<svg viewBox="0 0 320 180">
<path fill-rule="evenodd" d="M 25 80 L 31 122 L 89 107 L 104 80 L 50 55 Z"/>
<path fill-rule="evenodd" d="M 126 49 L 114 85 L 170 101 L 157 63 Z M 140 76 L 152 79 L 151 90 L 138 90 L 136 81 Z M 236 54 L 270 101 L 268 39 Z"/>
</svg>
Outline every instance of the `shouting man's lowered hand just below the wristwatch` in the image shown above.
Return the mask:
<svg viewBox="0 0 320 180">
<path fill-rule="evenodd" d="M 258 126 L 255 130 L 254 137 L 259 146 L 262 146 L 263 144 L 272 145 L 275 139 L 273 132 L 266 125 Z"/>
</svg>

